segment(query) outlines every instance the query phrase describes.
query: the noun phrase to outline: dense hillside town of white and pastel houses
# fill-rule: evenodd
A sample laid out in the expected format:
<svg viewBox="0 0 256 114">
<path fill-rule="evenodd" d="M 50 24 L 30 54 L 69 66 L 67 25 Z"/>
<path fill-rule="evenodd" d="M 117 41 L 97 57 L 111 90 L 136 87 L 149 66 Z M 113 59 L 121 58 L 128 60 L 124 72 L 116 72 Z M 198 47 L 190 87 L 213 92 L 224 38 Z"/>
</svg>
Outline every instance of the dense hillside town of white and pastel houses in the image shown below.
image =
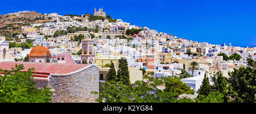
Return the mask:
<svg viewBox="0 0 256 114">
<path fill-rule="evenodd" d="M 205 73 L 210 76 L 221 71 L 225 77 L 228 77 L 228 72 L 233 68 L 247 65 L 247 58 L 256 59 L 256 47 L 235 47 L 231 43 L 228 46 L 225 43 L 213 45 L 207 42 L 192 41 L 147 27 L 131 25 L 121 19 L 109 23 L 108 19 L 90 21 L 88 15 L 62 16 L 52 13 L 44 14 L 44 17 L 51 17 L 52 22 L 22 27 L 23 33 L 27 34 L 27 39 L 35 40 L 32 42 L 33 46 L 47 47 L 52 54 L 51 62 L 82 64 L 81 55 L 77 55 L 77 52 L 81 49 L 82 51 L 91 51 L 91 49 L 84 47 L 81 42 L 72 41 L 71 38 L 79 34 L 85 37 L 88 37 L 90 33 L 94 34 L 92 38 L 93 64 L 100 69 L 100 81 L 106 79 L 108 72 L 108 68 L 104 68 L 104 65 L 112 62 L 115 68 L 118 68 L 118 60 L 121 58 L 127 59 L 132 82 L 142 80 L 140 69 L 145 69 L 148 75 L 154 72 L 152 75 L 154 77 L 179 77 L 181 69 L 185 69 L 192 75 L 188 67 L 190 62 L 195 61 L 199 63 L 199 69 L 193 71 L 193 77 L 183 78 L 181 81 L 194 90 L 198 90 Z M 53 37 L 57 30 L 67 30 L 68 27 L 98 28 L 98 32 L 87 30 Z M 126 36 L 127 29 L 139 29 L 140 31 L 132 36 Z M 49 36 L 47 40 L 45 36 Z M 19 35 L 19 38 L 23 36 Z M 21 50 L 13 47 L 8 51 L 10 55 L 8 60 L 14 60 L 25 58 L 31 49 Z M 218 56 L 220 53 L 228 56 L 237 53 L 241 59 L 225 61 L 222 56 Z M 3 60 L 2 55 L 0 60 Z"/>
</svg>

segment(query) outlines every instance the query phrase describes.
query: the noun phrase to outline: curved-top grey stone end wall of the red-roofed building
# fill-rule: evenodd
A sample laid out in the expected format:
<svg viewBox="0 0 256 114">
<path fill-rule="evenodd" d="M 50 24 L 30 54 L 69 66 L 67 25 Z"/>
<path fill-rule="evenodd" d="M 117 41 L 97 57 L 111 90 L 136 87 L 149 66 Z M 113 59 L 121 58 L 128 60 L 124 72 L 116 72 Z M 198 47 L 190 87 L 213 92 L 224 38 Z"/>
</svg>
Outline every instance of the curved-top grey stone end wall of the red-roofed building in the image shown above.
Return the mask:
<svg viewBox="0 0 256 114">
<path fill-rule="evenodd" d="M 53 91 L 53 103 L 95 102 L 99 91 L 99 69 L 91 66 L 68 76 L 49 77 L 48 87 Z"/>
</svg>

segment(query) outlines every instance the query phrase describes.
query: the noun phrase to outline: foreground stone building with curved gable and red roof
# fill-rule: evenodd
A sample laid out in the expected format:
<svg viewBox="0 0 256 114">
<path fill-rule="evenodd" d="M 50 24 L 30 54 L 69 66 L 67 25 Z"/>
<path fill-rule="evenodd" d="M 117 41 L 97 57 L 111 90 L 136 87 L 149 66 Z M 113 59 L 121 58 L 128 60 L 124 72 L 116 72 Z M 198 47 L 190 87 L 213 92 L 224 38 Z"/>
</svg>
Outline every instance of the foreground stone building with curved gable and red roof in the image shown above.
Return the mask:
<svg viewBox="0 0 256 114">
<path fill-rule="evenodd" d="M 0 62 L 0 68 L 10 71 L 15 64 L 23 64 L 27 71 L 35 68 L 36 87 L 51 87 L 53 103 L 96 102 L 99 92 L 99 69 L 94 64 L 62 64 L 33 62 Z M 2 74 L 2 72 L 0 72 Z"/>
</svg>

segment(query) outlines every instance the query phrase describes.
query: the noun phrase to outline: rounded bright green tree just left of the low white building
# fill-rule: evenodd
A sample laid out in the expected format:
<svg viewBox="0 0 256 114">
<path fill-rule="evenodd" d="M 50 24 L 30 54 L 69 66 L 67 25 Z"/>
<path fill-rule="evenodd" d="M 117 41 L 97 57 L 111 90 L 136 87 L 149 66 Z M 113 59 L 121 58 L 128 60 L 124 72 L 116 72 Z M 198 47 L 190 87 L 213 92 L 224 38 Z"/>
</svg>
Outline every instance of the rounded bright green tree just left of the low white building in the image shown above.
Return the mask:
<svg viewBox="0 0 256 114">
<path fill-rule="evenodd" d="M 184 82 L 180 81 L 179 78 L 168 77 L 167 80 L 164 82 L 166 84 L 166 89 L 164 89 L 164 91 L 166 92 L 172 92 L 176 95 L 195 93 L 194 90 L 192 90 Z"/>
</svg>

